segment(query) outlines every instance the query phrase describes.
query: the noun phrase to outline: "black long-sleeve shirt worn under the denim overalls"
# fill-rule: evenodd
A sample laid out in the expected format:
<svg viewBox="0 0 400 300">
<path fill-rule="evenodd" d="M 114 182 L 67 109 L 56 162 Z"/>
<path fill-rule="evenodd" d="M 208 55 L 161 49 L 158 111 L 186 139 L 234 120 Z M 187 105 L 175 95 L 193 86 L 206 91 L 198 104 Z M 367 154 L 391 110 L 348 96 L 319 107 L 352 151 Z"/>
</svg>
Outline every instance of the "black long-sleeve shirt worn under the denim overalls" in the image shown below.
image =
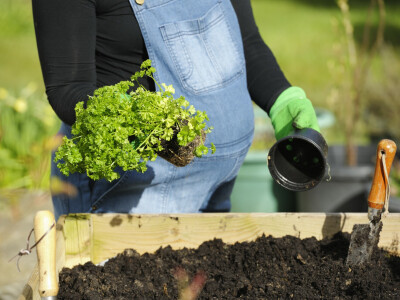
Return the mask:
<svg viewBox="0 0 400 300">
<path fill-rule="evenodd" d="M 269 112 L 290 86 L 263 42 L 250 0 L 231 0 L 243 37 L 250 96 Z M 127 80 L 148 58 L 128 0 L 32 0 L 46 93 L 58 117 L 75 122 L 75 105 L 96 88 Z M 154 90 L 150 80 L 143 80 Z"/>
</svg>

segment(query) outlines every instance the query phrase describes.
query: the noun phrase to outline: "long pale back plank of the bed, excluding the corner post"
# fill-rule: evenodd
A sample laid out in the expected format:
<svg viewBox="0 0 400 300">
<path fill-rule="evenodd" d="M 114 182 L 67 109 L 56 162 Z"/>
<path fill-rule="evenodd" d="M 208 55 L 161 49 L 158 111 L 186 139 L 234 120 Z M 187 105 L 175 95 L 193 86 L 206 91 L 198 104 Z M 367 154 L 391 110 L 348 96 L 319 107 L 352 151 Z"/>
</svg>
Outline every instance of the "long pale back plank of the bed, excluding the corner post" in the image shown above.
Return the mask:
<svg viewBox="0 0 400 300">
<path fill-rule="evenodd" d="M 379 246 L 400 255 L 400 214 L 390 214 Z M 221 238 L 226 243 L 251 241 L 258 236 L 299 238 L 331 237 L 339 231 L 351 232 L 354 224 L 368 223 L 365 213 L 253 213 L 92 216 L 93 251 L 99 263 L 126 248 L 139 253 L 154 252 L 160 246 L 173 249 L 196 248 L 203 241 Z"/>
</svg>

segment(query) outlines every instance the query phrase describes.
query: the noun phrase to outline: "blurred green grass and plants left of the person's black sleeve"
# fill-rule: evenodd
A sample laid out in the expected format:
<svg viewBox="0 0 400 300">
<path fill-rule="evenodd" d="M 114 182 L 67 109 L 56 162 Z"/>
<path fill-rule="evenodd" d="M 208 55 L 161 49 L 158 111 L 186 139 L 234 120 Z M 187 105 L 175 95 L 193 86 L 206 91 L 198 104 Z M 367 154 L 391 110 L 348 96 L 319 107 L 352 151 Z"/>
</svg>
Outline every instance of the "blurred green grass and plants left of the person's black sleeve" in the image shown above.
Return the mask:
<svg viewBox="0 0 400 300">
<path fill-rule="evenodd" d="M 2 0 L 0 11 L 1 198 L 4 189 L 49 188 L 59 121 L 43 95 L 31 1 Z"/>
</svg>

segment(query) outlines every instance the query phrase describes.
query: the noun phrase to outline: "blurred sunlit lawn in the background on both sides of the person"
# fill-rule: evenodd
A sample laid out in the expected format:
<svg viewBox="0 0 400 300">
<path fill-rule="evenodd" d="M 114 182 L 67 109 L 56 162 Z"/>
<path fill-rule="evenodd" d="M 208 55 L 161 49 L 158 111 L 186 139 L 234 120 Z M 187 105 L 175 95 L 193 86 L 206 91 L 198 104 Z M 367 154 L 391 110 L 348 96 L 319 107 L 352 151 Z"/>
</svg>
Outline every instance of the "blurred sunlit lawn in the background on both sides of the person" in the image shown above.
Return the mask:
<svg viewBox="0 0 400 300">
<path fill-rule="evenodd" d="M 366 3 L 352 0 L 355 30 L 362 32 Z M 337 42 L 332 22 L 339 18 L 334 0 L 252 0 L 265 42 L 293 85 L 303 87 L 324 107 L 330 89 L 327 64 Z M 387 0 L 387 38 L 400 46 L 400 2 Z M 35 82 L 43 88 L 33 28 L 31 1 L 2 0 L 0 11 L 0 85 L 20 88 Z"/>
</svg>

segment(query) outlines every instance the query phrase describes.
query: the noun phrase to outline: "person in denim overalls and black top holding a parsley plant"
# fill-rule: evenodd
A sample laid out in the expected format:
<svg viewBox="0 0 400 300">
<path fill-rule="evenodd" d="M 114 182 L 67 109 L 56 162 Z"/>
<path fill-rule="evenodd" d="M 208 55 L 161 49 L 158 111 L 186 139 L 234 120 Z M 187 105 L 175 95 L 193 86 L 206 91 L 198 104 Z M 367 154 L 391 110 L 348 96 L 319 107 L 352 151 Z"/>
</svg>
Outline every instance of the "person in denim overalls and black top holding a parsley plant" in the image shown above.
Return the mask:
<svg viewBox="0 0 400 300">
<path fill-rule="evenodd" d="M 254 101 L 280 139 L 294 127 L 319 130 L 310 100 L 292 86 L 260 36 L 250 0 L 32 0 L 46 93 L 71 137 L 77 102 L 127 80 L 150 58 L 156 80 L 172 84 L 213 126 L 213 155 L 175 167 L 158 158 L 145 173 L 113 182 L 86 174 L 52 176 L 75 186 L 54 194 L 56 219 L 68 213 L 228 212 L 236 175 L 251 145 Z M 151 80 L 141 84 L 155 90 Z"/>
</svg>

